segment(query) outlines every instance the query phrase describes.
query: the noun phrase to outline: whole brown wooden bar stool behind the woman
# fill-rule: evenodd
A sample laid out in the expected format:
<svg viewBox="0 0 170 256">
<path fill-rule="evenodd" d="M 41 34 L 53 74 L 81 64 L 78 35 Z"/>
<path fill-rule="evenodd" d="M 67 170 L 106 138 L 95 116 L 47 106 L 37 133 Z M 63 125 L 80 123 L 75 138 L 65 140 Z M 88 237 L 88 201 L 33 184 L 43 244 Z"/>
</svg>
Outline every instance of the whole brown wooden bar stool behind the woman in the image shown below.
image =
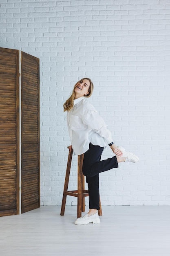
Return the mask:
<svg viewBox="0 0 170 256">
<path fill-rule="evenodd" d="M 71 196 L 77 197 L 77 218 L 79 218 L 79 217 L 82 217 L 82 212 L 85 211 L 85 196 L 88 196 L 88 190 L 84 189 L 85 182 L 84 182 L 84 175 L 82 173 L 84 154 L 78 155 L 77 190 L 67 191 L 69 177 L 70 177 L 71 160 L 73 155 L 73 149 L 71 147 L 67 147 L 67 148 L 69 148 L 69 153 L 68 153 L 66 177 L 65 177 L 65 183 L 64 183 L 64 191 L 63 191 L 62 207 L 61 207 L 60 215 L 62 216 L 64 215 L 65 206 L 66 206 L 66 197 L 67 195 L 71 195 Z M 98 210 L 98 214 L 99 216 L 102 216 L 101 202 L 99 201 L 99 203 L 100 203 L 100 210 Z"/>
</svg>

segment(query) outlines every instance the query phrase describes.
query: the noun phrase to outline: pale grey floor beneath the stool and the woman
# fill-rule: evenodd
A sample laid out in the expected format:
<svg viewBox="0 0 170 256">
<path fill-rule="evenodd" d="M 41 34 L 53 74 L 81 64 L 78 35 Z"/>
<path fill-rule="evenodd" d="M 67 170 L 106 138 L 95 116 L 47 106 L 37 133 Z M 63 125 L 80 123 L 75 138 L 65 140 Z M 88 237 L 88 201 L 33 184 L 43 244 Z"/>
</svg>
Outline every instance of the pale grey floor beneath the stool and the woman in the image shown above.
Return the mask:
<svg viewBox="0 0 170 256">
<path fill-rule="evenodd" d="M 42 206 L 0 217 L 0 256 L 170 256 L 170 206 L 102 211 L 100 224 L 83 226 L 74 224 L 75 206 L 64 216 L 60 207 Z"/>
</svg>

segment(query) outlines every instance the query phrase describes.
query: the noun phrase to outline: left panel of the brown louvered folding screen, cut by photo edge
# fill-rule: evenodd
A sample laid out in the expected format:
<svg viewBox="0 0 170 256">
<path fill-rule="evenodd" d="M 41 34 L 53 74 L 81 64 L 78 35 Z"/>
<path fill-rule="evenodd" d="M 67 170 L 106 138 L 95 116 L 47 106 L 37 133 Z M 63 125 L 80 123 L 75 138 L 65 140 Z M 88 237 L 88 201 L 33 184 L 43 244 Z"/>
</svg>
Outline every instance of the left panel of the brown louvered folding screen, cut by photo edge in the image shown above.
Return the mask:
<svg viewBox="0 0 170 256">
<path fill-rule="evenodd" d="M 0 48 L 0 216 L 19 213 L 19 51 Z"/>
</svg>

